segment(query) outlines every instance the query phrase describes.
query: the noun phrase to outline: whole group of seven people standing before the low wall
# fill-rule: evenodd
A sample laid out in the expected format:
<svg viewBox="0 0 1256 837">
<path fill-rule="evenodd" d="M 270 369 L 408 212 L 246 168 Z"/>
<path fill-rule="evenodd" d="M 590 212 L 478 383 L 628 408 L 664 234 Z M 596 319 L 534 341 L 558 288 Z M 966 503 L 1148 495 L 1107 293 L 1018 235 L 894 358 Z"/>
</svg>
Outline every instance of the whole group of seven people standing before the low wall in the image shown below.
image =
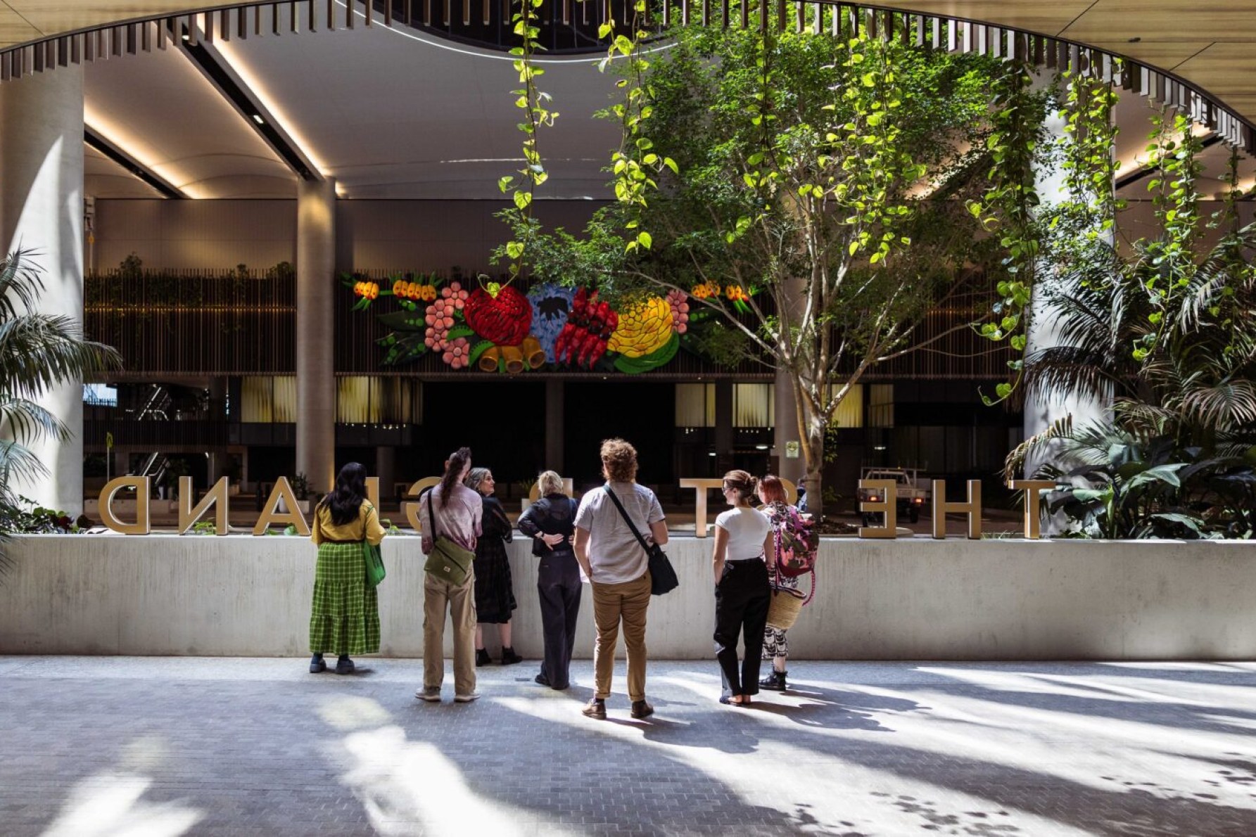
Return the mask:
<svg viewBox="0 0 1256 837">
<path fill-rule="evenodd" d="M 593 591 L 597 639 L 593 653 L 595 691 L 583 712 L 605 718 L 610 696 L 614 653 L 623 631 L 628 658 L 631 715 L 647 718 L 646 617 L 651 602 L 647 543 L 666 545 L 667 522 L 658 497 L 637 483 L 637 450 L 623 439 L 607 439 L 600 450 L 605 484 L 577 503 L 553 471 L 538 478 L 540 499 L 519 518 L 519 531 L 531 540 L 539 561 L 538 595 L 541 606 L 544 660 L 535 681 L 551 689 L 570 686 L 570 663 L 580 610 L 582 584 Z M 756 492 L 757 489 L 757 492 Z M 423 587 L 423 685 L 416 698 L 441 700 L 445 678 L 446 615 L 453 624 L 455 701 L 480 696 L 476 666 L 490 660 L 482 625 L 496 624 L 501 634 L 502 664 L 519 663 L 512 648 L 511 612 L 516 601 L 505 543 L 512 526 L 492 497 L 492 473 L 471 467 L 471 450 L 460 448 L 445 463 L 440 484 L 420 498 L 425 522 L 422 550 L 432 553 L 437 538 L 447 538 L 475 553 L 465 581 L 453 584 L 433 572 Z M 744 471 L 723 478 L 730 508 L 716 518 L 715 650 L 723 684 L 720 701 L 747 705 L 760 688 L 785 689 L 784 631 L 770 627 L 767 612 L 776 565 L 776 527 L 784 520 L 785 492 L 780 479 L 755 481 Z M 757 493 L 762 511 L 750 501 Z M 431 525 L 427 525 L 431 521 Z M 319 545 L 310 615 L 310 671 L 327 668 L 324 654 L 338 655 L 335 671 L 353 671 L 352 655 L 379 650 L 379 606 L 376 589 L 365 582 L 362 543 L 378 545 L 383 527 L 365 499 L 365 469 L 349 463 L 335 488 L 319 502 L 313 540 Z M 780 575 L 776 573 L 777 582 Z M 739 663 L 737 640 L 745 656 Z M 759 679 L 760 660 L 771 659 L 772 671 Z"/>
</svg>

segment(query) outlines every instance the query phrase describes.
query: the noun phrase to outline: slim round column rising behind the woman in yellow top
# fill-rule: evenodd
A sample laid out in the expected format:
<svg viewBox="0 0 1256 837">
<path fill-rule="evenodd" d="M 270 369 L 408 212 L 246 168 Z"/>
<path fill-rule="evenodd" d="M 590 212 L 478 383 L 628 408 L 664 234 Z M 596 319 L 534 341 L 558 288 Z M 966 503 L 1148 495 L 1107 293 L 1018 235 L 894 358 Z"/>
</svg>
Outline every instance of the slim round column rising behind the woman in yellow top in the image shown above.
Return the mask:
<svg viewBox="0 0 1256 837">
<path fill-rule="evenodd" d="M 296 471 L 335 479 L 335 182 L 296 183 Z"/>
</svg>

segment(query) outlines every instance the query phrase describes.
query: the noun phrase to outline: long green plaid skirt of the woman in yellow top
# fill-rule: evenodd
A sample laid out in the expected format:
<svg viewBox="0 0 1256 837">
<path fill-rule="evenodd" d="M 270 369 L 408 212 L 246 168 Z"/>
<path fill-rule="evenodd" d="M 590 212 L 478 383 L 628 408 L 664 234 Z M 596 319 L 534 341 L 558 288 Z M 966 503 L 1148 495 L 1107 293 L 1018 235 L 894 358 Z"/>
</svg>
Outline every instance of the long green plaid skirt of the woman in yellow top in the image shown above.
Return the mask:
<svg viewBox="0 0 1256 837">
<path fill-rule="evenodd" d="M 367 584 L 362 543 L 319 543 L 310 651 L 337 655 L 379 651 L 379 596 Z"/>
</svg>

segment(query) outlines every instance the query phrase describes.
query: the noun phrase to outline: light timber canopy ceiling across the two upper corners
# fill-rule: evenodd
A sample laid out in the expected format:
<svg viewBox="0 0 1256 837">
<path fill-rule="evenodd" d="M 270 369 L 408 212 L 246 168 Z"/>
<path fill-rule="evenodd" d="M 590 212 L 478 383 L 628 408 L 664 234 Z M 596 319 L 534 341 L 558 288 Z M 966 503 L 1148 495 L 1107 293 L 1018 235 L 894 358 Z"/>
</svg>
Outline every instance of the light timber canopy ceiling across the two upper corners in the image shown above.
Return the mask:
<svg viewBox="0 0 1256 837">
<path fill-rule="evenodd" d="M 1256 0 L 901 0 L 875 5 L 1011 26 L 1127 55 L 1182 78 L 1256 124 Z M 0 49 L 205 8 L 195 0 L 0 0 Z"/>
</svg>

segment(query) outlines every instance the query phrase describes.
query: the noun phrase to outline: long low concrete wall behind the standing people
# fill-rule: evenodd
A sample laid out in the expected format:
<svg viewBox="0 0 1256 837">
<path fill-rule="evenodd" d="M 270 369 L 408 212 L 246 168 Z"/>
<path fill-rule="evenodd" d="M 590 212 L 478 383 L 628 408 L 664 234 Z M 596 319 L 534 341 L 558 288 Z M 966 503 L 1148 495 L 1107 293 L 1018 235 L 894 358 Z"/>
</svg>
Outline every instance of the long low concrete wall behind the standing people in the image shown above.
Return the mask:
<svg viewBox="0 0 1256 837">
<path fill-rule="evenodd" d="M 515 648 L 541 648 L 535 560 L 511 548 Z M 314 546 L 288 537 L 21 536 L 0 578 L 0 653 L 303 655 Z M 668 545 L 659 659 L 710 659 L 711 542 Z M 384 541 L 383 654 L 420 656 L 418 538 Z M 1256 543 L 825 541 L 799 659 L 1256 659 Z M 578 656 L 592 655 L 585 592 Z M 490 646 L 496 642 L 490 630 Z M 448 636 L 446 637 L 448 639 Z M 448 649 L 447 649 L 448 650 Z"/>
</svg>

